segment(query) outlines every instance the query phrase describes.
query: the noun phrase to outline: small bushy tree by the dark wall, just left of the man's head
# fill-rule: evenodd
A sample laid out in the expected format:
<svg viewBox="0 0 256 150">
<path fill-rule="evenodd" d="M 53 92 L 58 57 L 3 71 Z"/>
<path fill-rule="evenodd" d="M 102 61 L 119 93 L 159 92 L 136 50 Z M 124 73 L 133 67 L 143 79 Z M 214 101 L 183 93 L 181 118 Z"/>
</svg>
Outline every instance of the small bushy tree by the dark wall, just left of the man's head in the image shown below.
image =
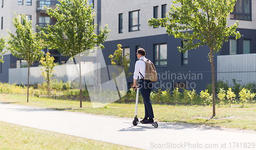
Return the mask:
<svg viewBox="0 0 256 150">
<path fill-rule="evenodd" d="M 122 57 L 122 53 L 123 53 L 123 49 L 121 48 L 122 45 L 121 44 L 117 44 L 117 49 L 114 52 L 113 55 L 110 55 L 109 58 L 111 58 L 111 64 L 112 65 L 118 65 L 118 66 L 122 66 L 124 69 L 124 73 L 126 74 L 126 77 L 130 77 L 133 73 L 129 72 L 129 64 L 131 62 L 129 58 L 129 54 L 125 54 Z M 119 70 L 119 73 L 121 73 L 123 70 Z M 116 74 L 115 74 L 116 75 Z"/>
</svg>

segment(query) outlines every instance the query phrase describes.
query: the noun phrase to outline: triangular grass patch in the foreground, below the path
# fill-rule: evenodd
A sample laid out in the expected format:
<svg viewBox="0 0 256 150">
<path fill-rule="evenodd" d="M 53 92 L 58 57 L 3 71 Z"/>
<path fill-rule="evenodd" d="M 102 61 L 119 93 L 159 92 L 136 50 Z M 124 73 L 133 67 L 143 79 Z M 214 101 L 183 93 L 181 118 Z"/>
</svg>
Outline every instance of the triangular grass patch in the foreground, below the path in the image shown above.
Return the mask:
<svg viewBox="0 0 256 150">
<path fill-rule="evenodd" d="M 0 149 L 137 149 L 0 121 Z"/>
</svg>

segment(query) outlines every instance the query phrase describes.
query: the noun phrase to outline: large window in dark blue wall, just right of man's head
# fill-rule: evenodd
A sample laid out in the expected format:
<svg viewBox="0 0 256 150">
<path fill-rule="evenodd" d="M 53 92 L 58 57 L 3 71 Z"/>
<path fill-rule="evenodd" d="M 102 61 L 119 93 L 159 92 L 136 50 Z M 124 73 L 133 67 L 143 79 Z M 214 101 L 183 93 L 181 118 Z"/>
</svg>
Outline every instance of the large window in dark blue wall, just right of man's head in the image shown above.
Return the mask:
<svg viewBox="0 0 256 150">
<path fill-rule="evenodd" d="M 167 44 L 155 44 L 155 65 L 167 65 Z"/>
</svg>

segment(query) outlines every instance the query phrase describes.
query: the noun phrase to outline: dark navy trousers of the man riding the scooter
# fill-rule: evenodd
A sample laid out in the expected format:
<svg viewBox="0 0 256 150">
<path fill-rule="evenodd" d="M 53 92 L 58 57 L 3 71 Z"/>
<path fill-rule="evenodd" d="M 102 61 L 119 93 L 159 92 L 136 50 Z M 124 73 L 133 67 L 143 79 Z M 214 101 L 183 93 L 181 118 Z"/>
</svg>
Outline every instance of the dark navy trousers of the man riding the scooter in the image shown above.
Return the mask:
<svg viewBox="0 0 256 150">
<path fill-rule="evenodd" d="M 153 88 L 152 83 L 147 83 L 145 80 L 140 80 L 140 93 L 143 97 L 144 107 L 145 107 L 145 118 L 154 118 L 153 108 L 150 101 L 150 93 Z"/>
</svg>

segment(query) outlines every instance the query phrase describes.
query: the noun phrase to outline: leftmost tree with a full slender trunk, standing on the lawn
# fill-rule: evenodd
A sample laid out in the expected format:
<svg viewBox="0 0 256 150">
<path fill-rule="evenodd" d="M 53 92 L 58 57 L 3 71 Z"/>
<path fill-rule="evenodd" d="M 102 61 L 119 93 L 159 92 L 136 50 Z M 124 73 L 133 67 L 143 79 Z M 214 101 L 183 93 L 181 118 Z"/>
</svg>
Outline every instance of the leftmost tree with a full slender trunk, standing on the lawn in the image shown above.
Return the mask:
<svg viewBox="0 0 256 150">
<path fill-rule="evenodd" d="M 28 93 L 27 102 L 29 102 L 29 67 L 38 61 L 44 52 L 43 45 L 41 45 L 41 34 L 34 33 L 31 20 L 28 21 L 25 15 L 22 15 L 19 19 L 16 14 L 12 20 L 14 27 L 16 28 L 15 34 L 12 34 L 9 30 L 8 47 L 7 49 L 13 56 L 22 58 L 28 63 Z"/>
</svg>

